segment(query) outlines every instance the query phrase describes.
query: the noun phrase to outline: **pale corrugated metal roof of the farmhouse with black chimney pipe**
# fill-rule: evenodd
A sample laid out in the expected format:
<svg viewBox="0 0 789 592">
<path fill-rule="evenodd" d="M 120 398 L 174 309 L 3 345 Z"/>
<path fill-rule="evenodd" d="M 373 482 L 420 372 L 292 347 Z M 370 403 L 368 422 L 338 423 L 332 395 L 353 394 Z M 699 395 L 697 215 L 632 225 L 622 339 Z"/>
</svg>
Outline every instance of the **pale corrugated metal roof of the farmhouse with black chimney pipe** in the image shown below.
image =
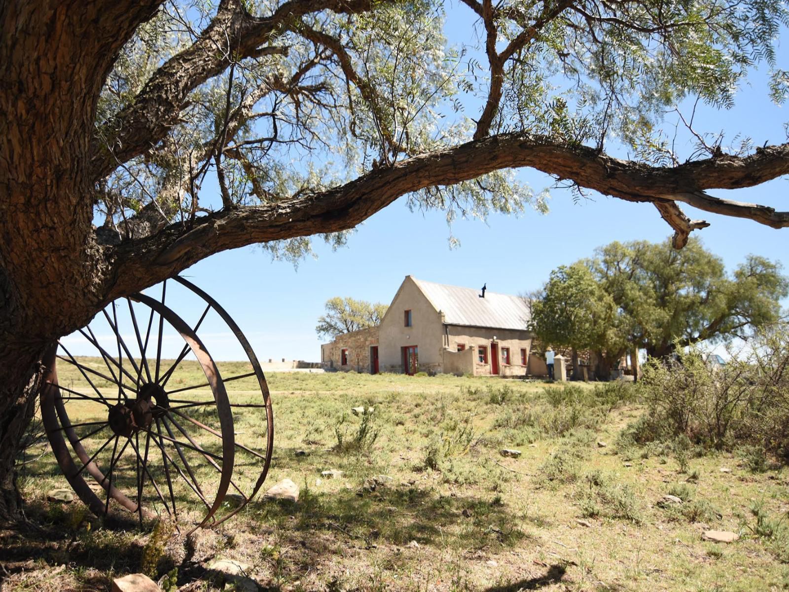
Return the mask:
<svg viewBox="0 0 789 592">
<path fill-rule="evenodd" d="M 436 310 L 444 313 L 447 324 L 524 330 L 529 322 L 529 307 L 518 296 L 486 290 L 485 297 L 480 298 L 481 290 L 474 288 L 411 279 Z"/>
</svg>

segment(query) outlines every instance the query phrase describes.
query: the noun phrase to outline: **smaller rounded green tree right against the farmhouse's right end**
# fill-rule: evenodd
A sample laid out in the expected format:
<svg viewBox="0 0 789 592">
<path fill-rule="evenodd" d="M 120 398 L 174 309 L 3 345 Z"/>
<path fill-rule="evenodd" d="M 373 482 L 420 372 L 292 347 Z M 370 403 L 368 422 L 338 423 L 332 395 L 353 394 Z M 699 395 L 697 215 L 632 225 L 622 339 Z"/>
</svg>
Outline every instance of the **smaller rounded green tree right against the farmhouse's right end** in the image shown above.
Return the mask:
<svg viewBox="0 0 789 592">
<path fill-rule="evenodd" d="M 573 371 L 578 372 L 578 350 L 594 350 L 604 373 L 612 360 L 627 348 L 621 314 L 593 273 L 582 262 L 564 265 L 551 272 L 544 288 L 531 305 L 529 328 L 541 343 L 569 347 Z"/>
</svg>

